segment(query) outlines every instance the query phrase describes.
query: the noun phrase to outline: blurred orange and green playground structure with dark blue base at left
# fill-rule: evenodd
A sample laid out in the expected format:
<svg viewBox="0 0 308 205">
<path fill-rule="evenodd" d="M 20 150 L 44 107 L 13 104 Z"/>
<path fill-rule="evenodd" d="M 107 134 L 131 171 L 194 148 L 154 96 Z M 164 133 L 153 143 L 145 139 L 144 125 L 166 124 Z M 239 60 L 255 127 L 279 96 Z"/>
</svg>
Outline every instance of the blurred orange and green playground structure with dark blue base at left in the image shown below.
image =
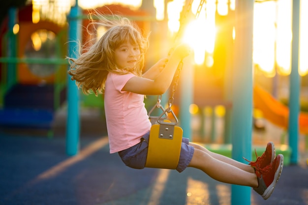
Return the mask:
<svg viewBox="0 0 308 205">
<path fill-rule="evenodd" d="M 133 11 L 127 7 L 110 5 L 102 7 L 98 11 L 103 13 L 120 12 L 123 15 L 145 16 L 142 11 Z M 89 24 L 86 16 L 90 11 L 83 11 L 85 19 L 82 24 Z M 55 113 L 66 101 L 67 82 L 67 26 L 50 21 L 41 20 L 32 23 L 32 5 L 25 6 L 12 13 L 9 18 L 19 16 L 19 33 L 10 33 L 7 18 L 1 27 L 1 51 L 0 55 L 0 125 L 5 127 L 39 128 L 48 130 L 48 136 L 53 136 L 53 121 Z M 137 21 L 140 28 L 147 29 L 146 21 Z M 12 26 L 11 26 L 12 27 Z M 34 37 L 33 37 L 34 36 Z M 84 41 L 89 35 L 84 30 Z M 36 39 L 33 39 L 35 38 Z M 37 38 L 38 37 L 38 38 Z M 47 38 L 47 39 L 44 39 Z M 41 48 L 35 51 L 33 41 L 41 41 Z M 10 42 L 16 45 L 16 49 L 9 48 Z M 18 42 L 18 43 L 17 43 Z M 12 72 L 12 71 L 15 72 Z M 103 98 L 93 95 L 81 95 L 82 105 L 86 107 L 103 107 Z"/>
</svg>

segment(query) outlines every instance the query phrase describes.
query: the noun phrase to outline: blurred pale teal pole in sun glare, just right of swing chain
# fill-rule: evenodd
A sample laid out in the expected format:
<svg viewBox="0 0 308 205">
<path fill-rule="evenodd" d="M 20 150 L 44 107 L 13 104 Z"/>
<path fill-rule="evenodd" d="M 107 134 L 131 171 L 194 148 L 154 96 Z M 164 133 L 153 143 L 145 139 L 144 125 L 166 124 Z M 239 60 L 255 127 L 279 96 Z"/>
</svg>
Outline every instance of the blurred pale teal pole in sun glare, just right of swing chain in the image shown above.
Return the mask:
<svg viewBox="0 0 308 205">
<path fill-rule="evenodd" d="M 190 60 L 190 62 L 188 62 Z M 193 66 L 191 57 L 184 59 L 184 67 L 181 71 L 181 104 L 180 104 L 180 122 L 183 128 L 183 137 L 192 141 L 191 115 L 189 106 L 193 101 Z M 186 65 L 186 66 L 185 66 Z"/>
</svg>

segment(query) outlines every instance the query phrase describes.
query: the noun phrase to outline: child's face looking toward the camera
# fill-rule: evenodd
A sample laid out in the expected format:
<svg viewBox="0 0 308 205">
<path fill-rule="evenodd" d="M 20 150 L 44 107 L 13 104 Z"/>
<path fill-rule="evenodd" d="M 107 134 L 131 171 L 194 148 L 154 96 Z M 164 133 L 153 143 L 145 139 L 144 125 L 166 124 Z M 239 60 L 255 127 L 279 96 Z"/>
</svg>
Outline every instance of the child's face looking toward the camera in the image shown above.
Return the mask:
<svg viewBox="0 0 308 205">
<path fill-rule="evenodd" d="M 115 63 L 118 68 L 133 68 L 140 59 L 139 45 L 124 42 L 116 48 L 114 53 Z"/>
</svg>

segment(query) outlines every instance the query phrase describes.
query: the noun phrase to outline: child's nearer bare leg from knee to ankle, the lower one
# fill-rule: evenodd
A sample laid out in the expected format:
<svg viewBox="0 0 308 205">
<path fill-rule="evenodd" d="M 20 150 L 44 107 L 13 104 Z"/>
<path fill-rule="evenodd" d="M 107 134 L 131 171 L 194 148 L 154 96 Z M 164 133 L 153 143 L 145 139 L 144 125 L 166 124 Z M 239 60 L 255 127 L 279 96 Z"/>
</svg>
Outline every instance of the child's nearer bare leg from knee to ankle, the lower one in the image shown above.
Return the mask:
<svg viewBox="0 0 308 205">
<path fill-rule="evenodd" d="M 188 165 L 202 170 L 212 178 L 229 183 L 256 188 L 258 186 L 257 176 L 254 173 L 246 172 L 236 166 L 220 161 L 206 151 L 196 148 L 193 157 Z"/>
</svg>

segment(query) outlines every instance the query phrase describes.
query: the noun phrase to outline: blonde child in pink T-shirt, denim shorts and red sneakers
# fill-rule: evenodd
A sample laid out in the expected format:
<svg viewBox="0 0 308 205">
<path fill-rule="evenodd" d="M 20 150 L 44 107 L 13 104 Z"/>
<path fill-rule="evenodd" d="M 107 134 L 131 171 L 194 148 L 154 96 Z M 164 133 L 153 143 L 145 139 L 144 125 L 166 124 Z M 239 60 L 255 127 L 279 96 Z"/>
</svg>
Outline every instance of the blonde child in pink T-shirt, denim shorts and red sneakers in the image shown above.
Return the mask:
<svg viewBox="0 0 308 205">
<path fill-rule="evenodd" d="M 151 128 L 144 96 L 161 95 L 169 88 L 190 49 L 180 44 L 169 58 L 143 72 L 147 37 L 126 18 L 101 20 L 100 25 L 109 29 L 78 59 L 68 58 L 68 73 L 85 94 L 104 92 L 110 153 L 118 152 L 128 167 L 143 169 Z M 247 165 L 183 138 L 176 170 L 181 173 L 186 167 L 200 169 L 221 182 L 250 186 L 266 200 L 281 174 L 283 155 L 276 156 L 270 142 L 262 156 Z"/>
</svg>

